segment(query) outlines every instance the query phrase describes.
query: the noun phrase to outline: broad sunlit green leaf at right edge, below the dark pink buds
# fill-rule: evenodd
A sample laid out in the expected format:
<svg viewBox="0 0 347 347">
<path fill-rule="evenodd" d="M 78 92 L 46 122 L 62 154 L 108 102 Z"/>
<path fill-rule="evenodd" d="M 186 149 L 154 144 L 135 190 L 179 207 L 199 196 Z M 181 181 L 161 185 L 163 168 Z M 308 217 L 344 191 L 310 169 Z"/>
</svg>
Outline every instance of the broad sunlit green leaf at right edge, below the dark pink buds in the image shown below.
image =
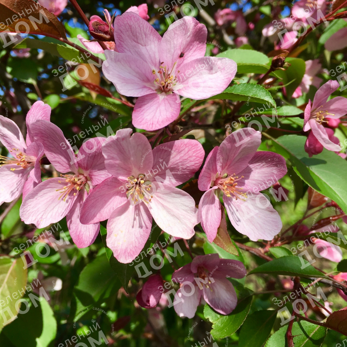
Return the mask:
<svg viewBox="0 0 347 347">
<path fill-rule="evenodd" d="M 305 141 L 306 137 L 299 135 L 284 135 L 276 140 L 272 139 L 277 153 L 291 162 L 301 179 L 347 212 L 346 160 L 326 149 L 309 158 L 304 150 Z"/>
</svg>

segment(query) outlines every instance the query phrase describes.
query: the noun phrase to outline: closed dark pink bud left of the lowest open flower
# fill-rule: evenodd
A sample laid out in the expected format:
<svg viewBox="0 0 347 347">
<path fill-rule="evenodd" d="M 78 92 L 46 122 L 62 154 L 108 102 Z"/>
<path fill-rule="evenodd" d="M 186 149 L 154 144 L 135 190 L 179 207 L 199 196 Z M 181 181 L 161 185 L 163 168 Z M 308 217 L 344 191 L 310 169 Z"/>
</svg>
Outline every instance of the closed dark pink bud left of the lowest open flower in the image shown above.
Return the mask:
<svg viewBox="0 0 347 347">
<path fill-rule="evenodd" d="M 160 274 L 157 273 L 150 276 L 136 295 L 137 303 L 144 308 L 151 308 L 158 305 L 161 299 L 160 286 L 163 286 L 163 279 Z"/>
</svg>

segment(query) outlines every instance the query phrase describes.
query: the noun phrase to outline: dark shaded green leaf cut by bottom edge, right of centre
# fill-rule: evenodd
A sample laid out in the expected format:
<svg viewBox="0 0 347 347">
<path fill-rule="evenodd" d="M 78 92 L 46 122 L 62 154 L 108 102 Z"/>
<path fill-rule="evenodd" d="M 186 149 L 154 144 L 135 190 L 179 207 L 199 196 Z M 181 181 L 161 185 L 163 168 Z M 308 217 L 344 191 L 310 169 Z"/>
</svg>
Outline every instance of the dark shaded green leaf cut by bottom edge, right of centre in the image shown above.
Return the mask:
<svg viewBox="0 0 347 347">
<path fill-rule="evenodd" d="M 261 347 L 270 335 L 276 310 L 256 311 L 248 315 L 239 335 L 239 347 Z"/>
</svg>

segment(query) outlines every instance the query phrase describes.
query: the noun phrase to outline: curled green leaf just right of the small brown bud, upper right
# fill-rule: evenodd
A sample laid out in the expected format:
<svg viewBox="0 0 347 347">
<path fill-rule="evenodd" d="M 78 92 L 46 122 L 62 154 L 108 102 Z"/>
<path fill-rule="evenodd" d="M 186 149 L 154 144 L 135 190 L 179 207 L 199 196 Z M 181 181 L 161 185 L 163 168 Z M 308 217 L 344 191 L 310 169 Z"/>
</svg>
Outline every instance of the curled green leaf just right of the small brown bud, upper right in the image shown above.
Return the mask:
<svg viewBox="0 0 347 347">
<path fill-rule="evenodd" d="M 287 98 L 290 99 L 304 77 L 306 64 L 301 58 L 286 58 L 286 62 L 291 64 L 286 70 L 276 70 L 270 75 L 281 78 L 283 84 L 287 84 L 295 79 L 294 82 L 286 87 Z"/>
</svg>

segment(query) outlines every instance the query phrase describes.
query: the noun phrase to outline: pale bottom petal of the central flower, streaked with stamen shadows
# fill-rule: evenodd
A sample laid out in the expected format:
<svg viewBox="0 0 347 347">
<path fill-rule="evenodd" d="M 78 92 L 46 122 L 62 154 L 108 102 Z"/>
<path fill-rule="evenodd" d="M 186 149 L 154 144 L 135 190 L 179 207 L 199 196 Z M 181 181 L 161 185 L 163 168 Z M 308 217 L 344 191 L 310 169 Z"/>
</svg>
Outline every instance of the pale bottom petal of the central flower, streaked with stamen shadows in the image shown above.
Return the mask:
<svg viewBox="0 0 347 347">
<path fill-rule="evenodd" d="M 121 263 L 132 262 L 142 251 L 152 227 L 152 216 L 145 204 L 119 206 L 107 222 L 106 243 Z"/>
</svg>

